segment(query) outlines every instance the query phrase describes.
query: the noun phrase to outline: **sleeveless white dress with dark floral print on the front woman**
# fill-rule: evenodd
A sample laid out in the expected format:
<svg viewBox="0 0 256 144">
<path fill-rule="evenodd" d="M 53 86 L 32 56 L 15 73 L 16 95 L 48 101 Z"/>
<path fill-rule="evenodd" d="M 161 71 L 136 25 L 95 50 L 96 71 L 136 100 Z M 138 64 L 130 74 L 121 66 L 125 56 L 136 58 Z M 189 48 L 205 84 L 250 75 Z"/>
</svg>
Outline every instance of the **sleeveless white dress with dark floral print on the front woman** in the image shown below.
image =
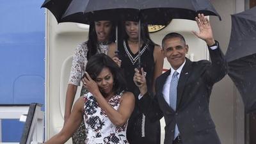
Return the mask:
<svg viewBox="0 0 256 144">
<path fill-rule="evenodd" d="M 109 99 L 108 103 L 118 109 L 120 99 L 123 95 L 114 95 Z M 126 144 L 127 122 L 118 127 L 114 125 L 103 111 L 92 93 L 84 94 L 84 124 L 86 127 L 86 144 L 104 143 L 104 144 Z"/>
</svg>

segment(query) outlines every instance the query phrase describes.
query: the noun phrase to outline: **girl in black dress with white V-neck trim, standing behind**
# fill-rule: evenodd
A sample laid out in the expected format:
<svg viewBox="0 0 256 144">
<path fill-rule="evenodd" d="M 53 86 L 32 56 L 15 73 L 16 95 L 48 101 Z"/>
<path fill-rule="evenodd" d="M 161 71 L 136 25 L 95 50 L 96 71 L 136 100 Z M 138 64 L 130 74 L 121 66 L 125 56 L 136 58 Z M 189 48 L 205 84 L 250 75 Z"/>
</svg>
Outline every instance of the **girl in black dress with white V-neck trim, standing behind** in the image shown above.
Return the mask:
<svg viewBox="0 0 256 144">
<path fill-rule="evenodd" d="M 154 44 L 149 37 L 147 24 L 141 24 L 139 31 L 139 22 L 124 21 L 120 28 L 118 40 L 118 56 L 115 55 L 116 48 L 109 49 L 109 56 L 124 70 L 127 81 L 128 91 L 134 93 L 136 101 L 140 94 L 138 87 L 133 82 L 134 68 L 140 64 L 143 70 L 147 72 L 147 85 L 152 93 L 156 77 L 162 74 L 163 53 L 161 48 Z M 140 51 L 138 37 L 141 35 Z M 139 54 L 140 52 L 140 54 Z M 140 57 L 140 63 L 139 63 Z M 131 144 L 150 144 L 160 143 L 160 122 L 150 122 L 150 120 L 140 111 L 140 106 L 136 102 L 134 111 L 127 127 L 127 140 Z"/>
</svg>

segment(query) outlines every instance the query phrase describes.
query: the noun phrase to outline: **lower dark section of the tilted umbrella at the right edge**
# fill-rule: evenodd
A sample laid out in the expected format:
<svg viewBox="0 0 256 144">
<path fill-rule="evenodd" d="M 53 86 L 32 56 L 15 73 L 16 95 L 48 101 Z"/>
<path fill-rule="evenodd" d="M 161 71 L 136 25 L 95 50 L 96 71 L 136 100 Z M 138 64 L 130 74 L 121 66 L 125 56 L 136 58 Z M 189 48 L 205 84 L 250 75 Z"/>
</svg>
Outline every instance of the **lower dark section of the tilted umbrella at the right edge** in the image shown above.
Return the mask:
<svg viewBox="0 0 256 144">
<path fill-rule="evenodd" d="M 255 112 L 256 54 L 228 62 L 228 76 L 230 76 L 241 94 L 246 113 Z"/>
</svg>

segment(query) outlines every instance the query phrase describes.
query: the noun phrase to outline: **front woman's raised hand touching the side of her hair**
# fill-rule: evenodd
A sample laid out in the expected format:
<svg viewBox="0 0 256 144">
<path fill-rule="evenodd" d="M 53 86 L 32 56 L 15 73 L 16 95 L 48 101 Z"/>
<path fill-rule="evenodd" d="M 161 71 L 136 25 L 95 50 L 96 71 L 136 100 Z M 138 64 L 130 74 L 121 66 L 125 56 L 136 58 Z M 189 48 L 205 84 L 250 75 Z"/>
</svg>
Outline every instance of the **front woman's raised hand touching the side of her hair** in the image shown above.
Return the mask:
<svg viewBox="0 0 256 144">
<path fill-rule="evenodd" d="M 92 93 L 93 97 L 95 97 L 100 93 L 99 86 L 95 81 L 93 81 L 87 72 L 85 72 L 85 75 L 86 76 L 82 79 L 83 85 L 86 90 Z"/>
</svg>

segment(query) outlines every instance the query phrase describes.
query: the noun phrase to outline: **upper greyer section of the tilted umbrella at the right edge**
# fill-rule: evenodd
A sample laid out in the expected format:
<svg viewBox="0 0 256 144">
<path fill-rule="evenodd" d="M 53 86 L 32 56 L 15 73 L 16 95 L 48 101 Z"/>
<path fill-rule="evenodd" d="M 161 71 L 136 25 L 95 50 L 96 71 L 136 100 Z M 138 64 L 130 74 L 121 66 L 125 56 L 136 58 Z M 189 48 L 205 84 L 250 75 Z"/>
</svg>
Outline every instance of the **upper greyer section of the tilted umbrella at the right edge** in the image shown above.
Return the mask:
<svg viewBox="0 0 256 144">
<path fill-rule="evenodd" d="M 227 61 L 256 53 L 256 7 L 231 15 L 232 29 L 226 52 Z"/>
</svg>

